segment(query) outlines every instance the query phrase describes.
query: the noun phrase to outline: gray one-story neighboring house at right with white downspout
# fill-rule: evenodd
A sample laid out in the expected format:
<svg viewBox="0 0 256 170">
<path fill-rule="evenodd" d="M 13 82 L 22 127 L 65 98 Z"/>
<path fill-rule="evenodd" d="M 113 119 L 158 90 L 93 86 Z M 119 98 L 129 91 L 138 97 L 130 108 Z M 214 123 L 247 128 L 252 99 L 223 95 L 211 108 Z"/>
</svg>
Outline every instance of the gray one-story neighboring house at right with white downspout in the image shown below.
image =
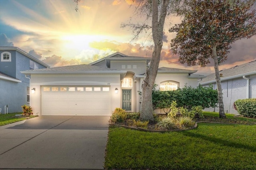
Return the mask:
<svg viewBox="0 0 256 170">
<path fill-rule="evenodd" d="M 220 71 L 225 113 L 238 114 L 233 104 L 238 99 L 256 98 L 256 60 Z M 215 73 L 198 82 L 202 86 L 214 85 L 217 88 Z M 214 111 L 214 108 L 205 109 Z M 215 108 L 218 111 L 219 108 Z"/>
</svg>

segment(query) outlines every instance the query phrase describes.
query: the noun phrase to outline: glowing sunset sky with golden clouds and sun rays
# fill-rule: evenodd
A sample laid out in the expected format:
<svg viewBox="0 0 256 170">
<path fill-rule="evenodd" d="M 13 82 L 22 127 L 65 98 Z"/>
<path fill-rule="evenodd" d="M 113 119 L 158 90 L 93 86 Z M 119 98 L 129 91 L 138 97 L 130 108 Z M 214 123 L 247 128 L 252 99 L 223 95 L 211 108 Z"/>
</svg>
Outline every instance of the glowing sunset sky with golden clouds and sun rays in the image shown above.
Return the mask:
<svg viewBox="0 0 256 170">
<path fill-rule="evenodd" d="M 142 23 L 145 16 L 134 13 L 131 0 L 81 0 L 76 12 L 73 0 L 0 0 L 0 46 L 19 47 L 51 67 L 89 64 L 115 52 L 151 57 L 152 38 L 141 34 L 132 41 L 132 30 L 121 23 Z M 178 62 L 170 50 L 175 33 L 168 29 L 181 18 L 168 16 L 164 25 L 159 66 L 214 72 L 213 61 L 206 67 Z M 148 32 L 150 33 L 150 32 Z M 232 44 L 224 70 L 256 59 L 256 36 Z"/>
</svg>

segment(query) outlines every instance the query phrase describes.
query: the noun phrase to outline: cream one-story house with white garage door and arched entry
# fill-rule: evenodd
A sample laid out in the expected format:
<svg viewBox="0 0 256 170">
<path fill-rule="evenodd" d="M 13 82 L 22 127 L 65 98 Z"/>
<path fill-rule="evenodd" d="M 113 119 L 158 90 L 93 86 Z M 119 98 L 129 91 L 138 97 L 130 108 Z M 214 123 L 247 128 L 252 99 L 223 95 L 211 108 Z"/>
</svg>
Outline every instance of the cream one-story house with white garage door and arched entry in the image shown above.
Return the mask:
<svg viewBox="0 0 256 170">
<path fill-rule="evenodd" d="M 140 111 L 141 83 L 148 57 L 114 53 L 90 64 L 22 71 L 30 75 L 30 106 L 37 115 L 112 115 L 116 107 Z M 196 87 L 196 70 L 161 67 L 157 88 Z"/>
</svg>

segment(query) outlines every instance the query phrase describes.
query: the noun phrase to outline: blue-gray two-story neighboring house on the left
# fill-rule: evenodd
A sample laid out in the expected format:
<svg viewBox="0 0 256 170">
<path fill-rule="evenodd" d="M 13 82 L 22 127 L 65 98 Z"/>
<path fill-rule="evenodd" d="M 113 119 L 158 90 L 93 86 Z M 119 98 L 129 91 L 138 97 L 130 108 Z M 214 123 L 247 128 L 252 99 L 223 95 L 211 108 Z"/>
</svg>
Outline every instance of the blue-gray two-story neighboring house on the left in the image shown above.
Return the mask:
<svg viewBox="0 0 256 170">
<path fill-rule="evenodd" d="M 20 112 L 30 103 L 30 80 L 20 71 L 48 68 L 47 64 L 18 47 L 0 47 L 0 109 L 1 113 Z M 29 77 L 29 76 L 28 76 Z"/>
</svg>

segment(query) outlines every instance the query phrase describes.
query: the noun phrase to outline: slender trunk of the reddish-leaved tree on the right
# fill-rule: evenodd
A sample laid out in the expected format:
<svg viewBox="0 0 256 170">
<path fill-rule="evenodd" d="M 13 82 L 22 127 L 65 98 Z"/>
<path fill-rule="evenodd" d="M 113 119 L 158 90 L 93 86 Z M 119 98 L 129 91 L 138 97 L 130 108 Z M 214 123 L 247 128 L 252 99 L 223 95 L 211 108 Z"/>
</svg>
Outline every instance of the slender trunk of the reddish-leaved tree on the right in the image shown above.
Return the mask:
<svg viewBox="0 0 256 170">
<path fill-rule="evenodd" d="M 223 104 L 223 96 L 222 96 L 222 87 L 220 82 L 220 72 L 219 72 L 219 64 L 218 64 L 218 57 L 216 52 L 216 44 L 212 47 L 212 53 L 213 53 L 213 59 L 214 59 L 214 70 L 215 70 L 215 79 L 217 84 L 217 90 L 218 90 L 218 103 L 219 103 L 219 115 L 220 118 L 226 118 L 225 111 L 224 111 L 224 104 Z"/>
</svg>

